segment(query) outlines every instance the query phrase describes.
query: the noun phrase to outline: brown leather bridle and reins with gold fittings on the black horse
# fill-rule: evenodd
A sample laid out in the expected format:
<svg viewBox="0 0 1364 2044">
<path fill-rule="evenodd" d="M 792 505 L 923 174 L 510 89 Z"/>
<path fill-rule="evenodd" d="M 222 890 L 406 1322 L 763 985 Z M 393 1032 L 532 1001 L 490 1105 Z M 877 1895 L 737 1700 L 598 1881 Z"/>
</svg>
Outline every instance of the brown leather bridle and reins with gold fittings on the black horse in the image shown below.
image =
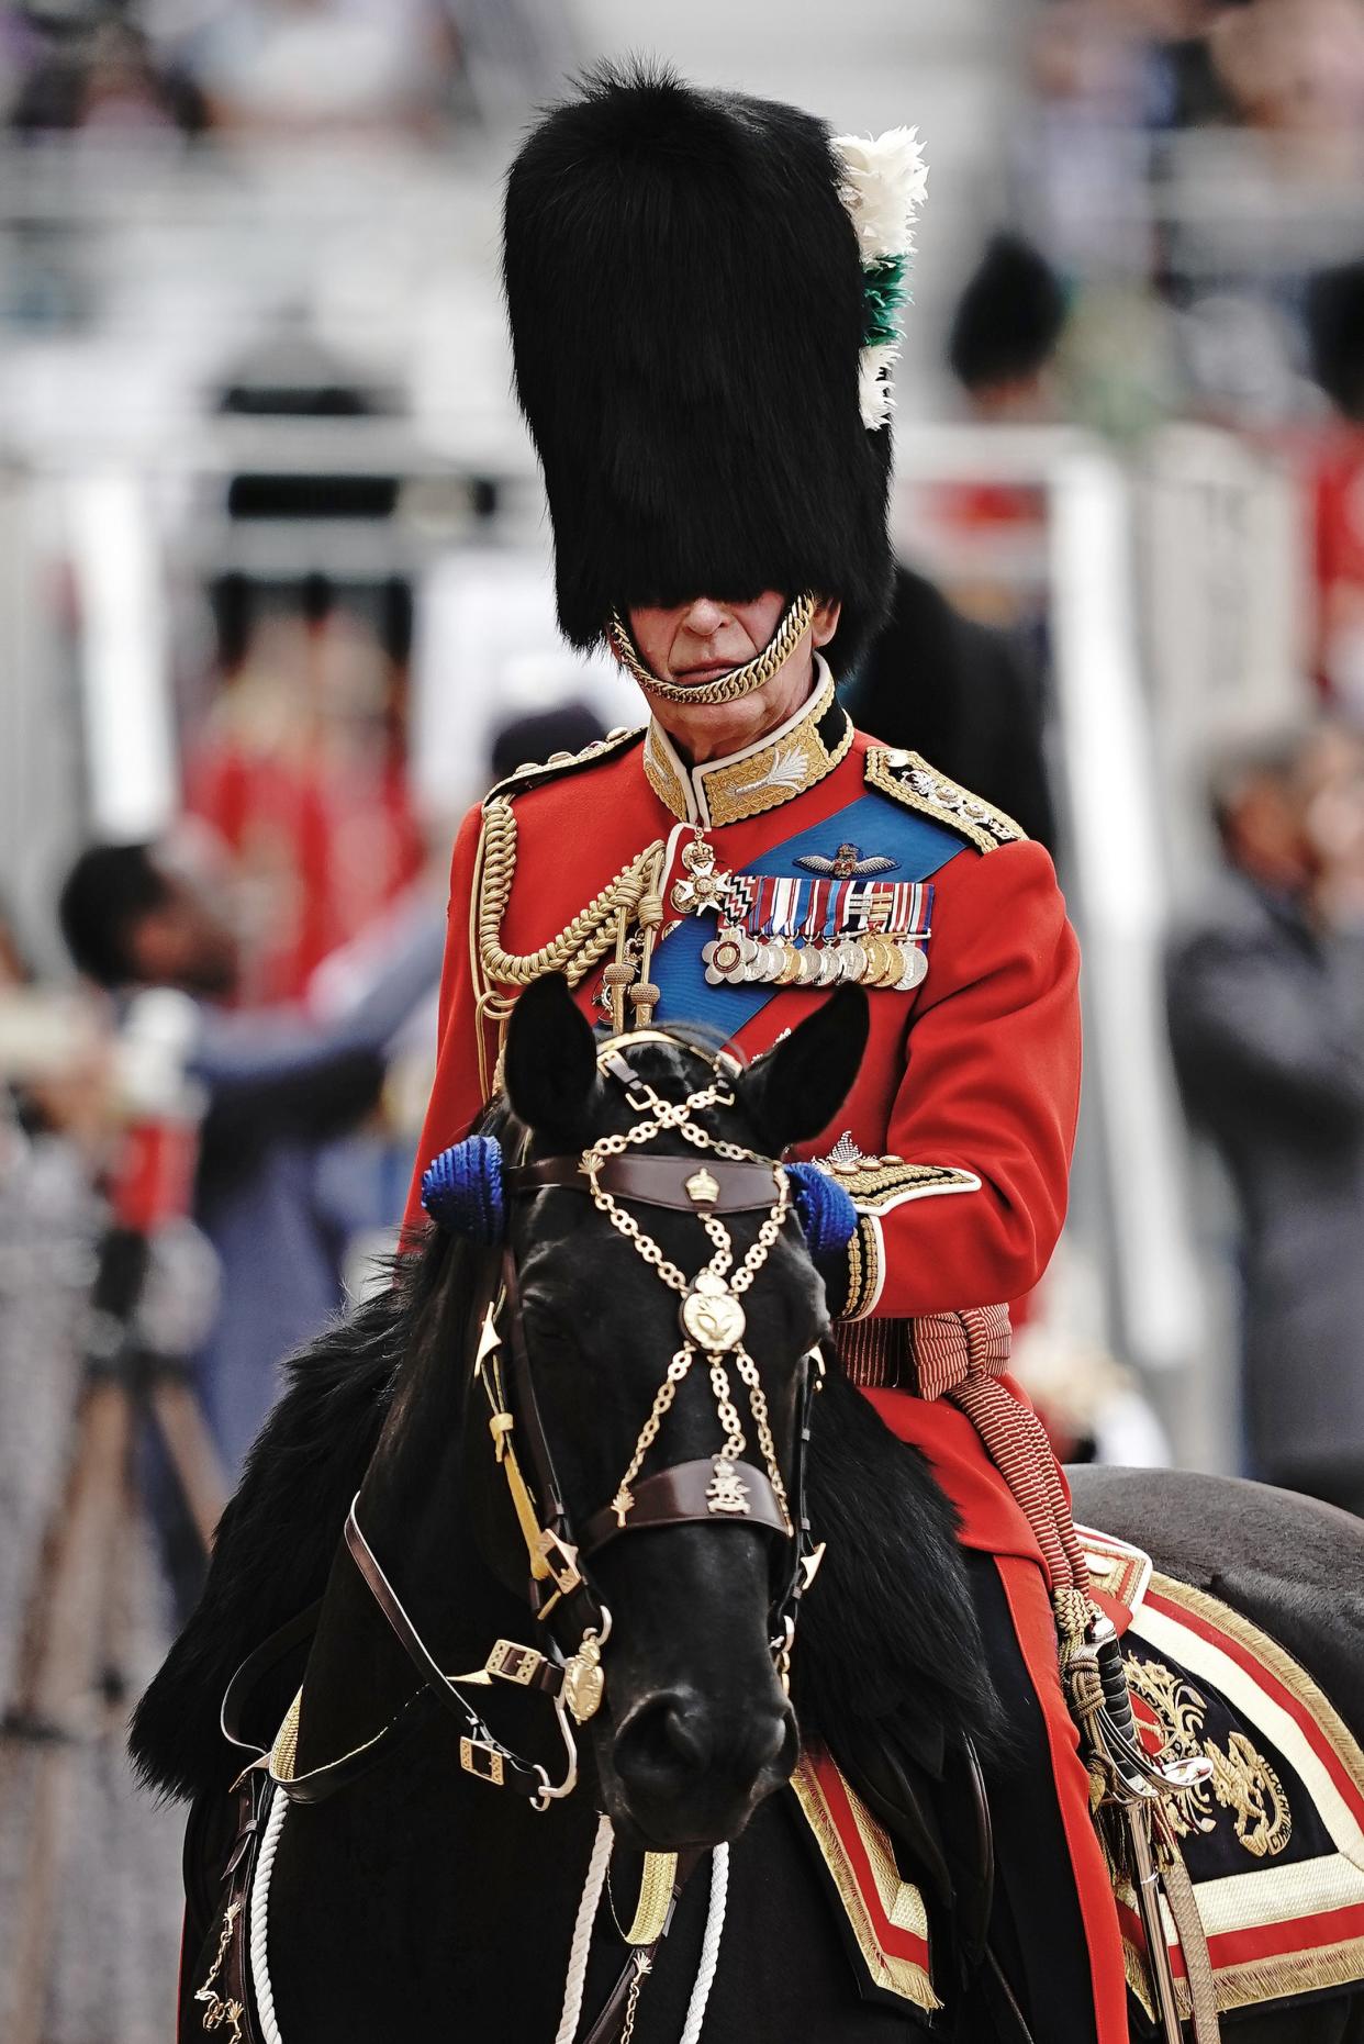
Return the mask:
<svg viewBox="0 0 1364 2044">
<path fill-rule="evenodd" d="M 483 1314 L 472 1376 L 487 1400 L 495 1466 L 503 1474 L 511 1513 L 526 1547 L 526 1598 L 534 1619 L 544 1627 L 544 1650 L 497 1639 L 483 1668 L 456 1676 L 446 1674 L 362 1533 L 356 1517 L 358 1500 L 352 1502 L 346 1519 L 346 1547 L 389 1627 L 421 1674 L 423 1688 L 364 1746 L 339 1760 L 311 1768 L 307 1774 L 294 1770 L 301 1705 L 301 1697 L 294 1697 L 270 1752 L 270 1776 L 292 1801 L 321 1801 L 358 1774 L 368 1772 L 395 1733 L 415 1729 L 429 1715 L 431 1701 L 446 1709 L 460 1727 L 460 1766 L 464 1772 L 495 1788 L 528 1797 L 538 1811 L 571 1795 L 577 1786 L 573 1725 L 587 1723 L 601 1707 L 605 1688 L 601 1652 L 611 1637 L 611 1613 L 593 1582 L 591 1564 L 611 1541 L 628 1533 L 677 1525 L 751 1525 L 789 1543 L 787 1566 L 779 1570 L 769 1605 L 773 1664 L 781 1686 L 789 1690 L 800 1598 L 814 1582 L 824 1553 L 824 1545 L 812 1541 L 806 1517 L 806 1451 L 812 1400 L 824 1378 L 824 1359 L 818 1349 L 812 1349 L 800 1361 L 795 1445 L 789 1480 L 785 1480 L 771 1437 L 761 1374 L 744 1347 L 744 1308 L 740 1304 L 787 1220 L 789 1181 L 781 1165 L 742 1145 L 712 1136 L 695 1118 L 710 1108 L 734 1106 L 732 1077 L 738 1067 L 732 1061 L 710 1059 L 708 1053 L 687 1044 L 689 1053 L 710 1065 L 710 1083 L 689 1091 L 683 1100 L 665 1100 L 636 1075 L 624 1055 L 626 1049 L 640 1042 L 677 1047 L 675 1038 L 658 1030 L 634 1030 L 626 1038 L 609 1038 L 597 1053 L 597 1069 L 624 1087 L 630 1106 L 640 1116 L 626 1134 L 601 1136 L 581 1157 L 556 1155 L 501 1169 L 501 1186 L 511 1200 L 536 1198 L 546 1190 L 573 1190 L 591 1198 L 658 1280 L 681 1298 L 683 1343 L 667 1365 L 616 1496 L 609 1504 L 589 1513 L 581 1525 L 575 1525 L 554 1470 L 554 1453 L 536 1392 L 515 1253 L 511 1243 L 503 1241 L 501 1282 Z M 638 1155 L 642 1147 L 665 1132 L 681 1134 L 691 1149 L 701 1153 L 701 1159 L 693 1165 L 689 1157 Z M 687 1280 L 630 1208 L 620 1204 L 622 1200 L 632 1206 L 691 1212 L 699 1218 L 712 1255 L 695 1278 Z M 759 1233 L 734 1267 L 734 1249 L 724 1216 L 763 1210 Z M 714 1455 L 665 1464 L 642 1474 L 677 1388 L 701 1355 L 710 1372 L 724 1445 Z M 746 1437 L 728 1376 L 730 1361 L 744 1386 L 765 1466 L 746 1455 Z M 268 1641 L 266 1650 L 252 1656 L 233 1678 L 223 1703 L 223 1729 L 229 1737 L 233 1737 L 233 1692 L 243 1680 L 254 1680 L 262 1666 L 268 1666 L 262 1656 L 282 1639 L 284 1635 L 276 1635 L 276 1641 Z M 276 1652 L 274 1658 L 278 1660 L 280 1654 Z M 540 1762 L 524 1760 L 503 1746 L 464 1694 L 468 1686 L 491 1686 L 493 1682 L 532 1688 L 550 1701 L 564 1746 L 564 1774 L 558 1782 L 550 1780 Z M 630 1942 L 638 1940 L 632 1936 Z"/>
</svg>

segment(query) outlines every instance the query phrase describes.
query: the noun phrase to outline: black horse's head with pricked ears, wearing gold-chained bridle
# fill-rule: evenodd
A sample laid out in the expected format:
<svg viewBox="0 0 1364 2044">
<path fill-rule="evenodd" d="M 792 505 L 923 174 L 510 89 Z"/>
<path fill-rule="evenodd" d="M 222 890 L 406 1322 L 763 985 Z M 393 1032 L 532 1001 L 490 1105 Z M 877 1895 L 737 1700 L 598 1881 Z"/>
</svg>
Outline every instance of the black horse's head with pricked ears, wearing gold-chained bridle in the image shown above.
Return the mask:
<svg viewBox="0 0 1364 2044">
<path fill-rule="evenodd" d="M 528 1130 L 507 1171 L 521 1369 L 611 1615 L 591 1737 L 636 1844 L 734 1838 L 795 1760 L 781 1647 L 828 1316 L 785 1181 L 755 1159 L 828 1124 L 865 1036 L 865 995 L 845 989 L 748 1071 L 658 1032 L 603 1053 L 562 979 L 532 985 L 507 1032 Z M 687 1128 L 656 1106 L 687 1100 Z M 562 1159 L 613 1169 L 573 1186 Z"/>
</svg>

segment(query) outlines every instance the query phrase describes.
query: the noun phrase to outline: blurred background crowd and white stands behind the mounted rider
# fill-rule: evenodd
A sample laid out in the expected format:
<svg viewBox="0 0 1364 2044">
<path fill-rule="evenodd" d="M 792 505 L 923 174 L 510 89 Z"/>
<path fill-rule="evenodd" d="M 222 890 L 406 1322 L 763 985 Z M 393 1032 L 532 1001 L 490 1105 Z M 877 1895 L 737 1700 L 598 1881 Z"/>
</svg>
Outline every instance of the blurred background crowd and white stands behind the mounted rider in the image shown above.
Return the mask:
<svg viewBox="0 0 1364 2044">
<path fill-rule="evenodd" d="M 1364 0 L 0 4 L 16 2044 L 168 2034 L 129 1688 L 280 1359 L 382 1282 L 458 816 L 638 722 L 554 632 L 497 286 L 530 108 L 630 47 L 926 143 L 896 611 L 845 685 L 1053 848 L 1082 932 L 1074 1218 L 1020 1314 L 1057 1447 L 1364 1511 Z M 35 1594 L 92 1572 L 53 1666 Z M 102 1936 L 35 1872 L 53 1811 Z"/>
</svg>

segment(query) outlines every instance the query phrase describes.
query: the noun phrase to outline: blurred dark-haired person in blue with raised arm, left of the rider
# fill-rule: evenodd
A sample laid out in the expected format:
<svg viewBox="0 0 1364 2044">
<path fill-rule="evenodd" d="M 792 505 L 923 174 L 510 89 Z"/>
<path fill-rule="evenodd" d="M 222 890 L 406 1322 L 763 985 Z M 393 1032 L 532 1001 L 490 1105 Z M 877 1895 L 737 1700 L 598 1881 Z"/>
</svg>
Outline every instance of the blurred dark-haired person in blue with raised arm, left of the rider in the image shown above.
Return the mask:
<svg viewBox="0 0 1364 2044">
<path fill-rule="evenodd" d="M 96 985 L 176 987 L 194 1002 L 186 1077 L 204 1096 L 194 1218 L 223 1273 L 198 1384 L 235 1472 L 274 1402 L 280 1359 L 342 1304 L 346 1245 L 317 1196 L 319 1151 L 374 1108 L 389 1042 L 436 987 L 442 920 L 417 905 L 327 1020 L 227 1012 L 241 957 L 227 881 L 184 842 L 90 846 L 61 887 L 59 920 Z"/>
</svg>

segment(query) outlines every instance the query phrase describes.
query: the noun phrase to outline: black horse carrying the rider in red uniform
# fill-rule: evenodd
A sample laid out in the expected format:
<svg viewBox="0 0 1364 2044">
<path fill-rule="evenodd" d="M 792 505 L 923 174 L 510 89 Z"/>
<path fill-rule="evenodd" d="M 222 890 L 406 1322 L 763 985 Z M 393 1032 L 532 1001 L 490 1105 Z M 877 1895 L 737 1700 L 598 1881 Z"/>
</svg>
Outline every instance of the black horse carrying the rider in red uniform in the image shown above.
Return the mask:
<svg viewBox="0 0 1364 2044">
<path fill-rule="evenodd" d="M 779 1157 L 828 1124 L 863 1040 L 863 995 L 834 995 L 695 1118 L 714 1139 Z M 636 1081 L 673 1100 L 718 1071 L 697 1047 L 656 1036 L 628 1047 L 628 1063 Z M 505 1069 L 507 1102 L 487 1126 L 507 1155 L 526 1139 L 530 1159 L 573 1157 L 640 1118 L 638 1096 L 601 1075 L 597 1044 L 560 981 L 534 985 L 517 1004 Z M 677 1134 L 663 1134 L 654 1149 L 697 1157 Z M 736 1259 L 757 1241 L 761 1218 L 728 1216 Z M 706 1257 L 693 1214 L 650 1208 L 648 1233 L 687 1273 Z M 511 1204 L 509 1257 L 556 1476 L 575 1525 L 585 1525 L 611 1500 L 677 1349 L 677 1300 L 636 1245 L 575 1190 L 550 1186 Z M 223 1519 L 200 1609 L 137 1711 L 133 1752 L 143 1774 L 194 1799 L 182 2038 L 200 2034 L 192 1993 L 217 1942 L 209 1936 L 217 1930 L 215 1876 L 229 1842 L 221 1827 L 243 1758 L 219 1731 L 219 1699 L 235 1664 L 323 1592 L 294 1772 L 364 1748 L 411 1711 L 411 1658 L 337 1537 L 352 1494 L 360 1492 L 356 1517 L 372 1553 L 442 1670 L 479 1670 L 495 1639 L 532 1635 L 526 1549 L 489 1443 L 487 1406 L 470 1402 L 479 1396 L 470 1361 L 497 1282 L 495 1251 L 436 1235 L 391 1292 L 297 1359 L 292 1388 Z M 826 1337 L 822 1284 L 793 1220 L 744 1308 L 775 1459 L 789 1476 L 802 1431 L 802 1359 Z M 656 1459 L 714 1457 L 716 1445 L 716 1400 L 703 1374 L 693 1374 L 667 1416 Z M 1170 1521 L 1190 1545 L 1200 1496 L 1200 1480 L 1182 1480 L 1182 1511 Z M 890 1435 L 836 1369 L 814 1408 L 806 1502 L 828 1553 L 818 1588 L 802 1602 L 795 1643 L 802 1733 L 828 1744 L 881 1807 L 894 1805 L 898 1842 L 941 1909 L 939 1985 L 949 2007 L 935 2028 L 984 2044 L 1008 2030 L 996 2028 L 998 1987 L 977 1962 L 971 1917 L 982 1870 L 961 1840 L 975 1836 L 971 1756 L 984 1756 L 988 1772 L 1006 1772 L 1010 1731 L 984 1674 L 953 1513 L 922 1457 Z M 1121 1513 L 1106 1511 L 1096 1480 L 1084 1511 L 1153 1545 L 1172 1572 L 1190 1572 L 1180 1568 L 1188 1555 L 1166 1555 L 1139 1496 L 1121 1492 L 1115 1502 Z M 1221 1494 L 1217 1504 L 1215 1551 L 1233 1576 L 1243 1558 L 1235 1584 L 1243 1609 L 1270 1623 L 1294 1602 L 1294 1511 L 1311 1508 L 1266 1504 L 1254 1529 L 1256 1560 L 1221 1513 Z M 1364 1551 L 1364 1541 L 1356 1545 Z M 472 1778 L 460 1766 L 460 1727 L 440 1713 L 393 1739 L 342 1793 L 290 1807 L 270 1876 L 268 1956 L 282 2044 L 427 2036 L 548 2044 L 560 2024 L 597 1809 L 609 1811 L 618 1844 L 579 2036 L 607 2005 L 628 1956 L 611 1915 L 620 1927 L 634 1907 L 642 1850 L 722 1840 L 734 1852 L 708 2044 L 875 2044 L 914 2034 L 904 2005 L 859 1999 L 810 1840 L 789 1799 L 773 1795 L 798 1746 L 773 1658 L 773 1609 L 787 1570 L 789 1541 L 740 1519 L 669 1525 L 601 1547 L 591 1574 L 611 1613 L 605 1701 L 581 1735 L 577 1795 L 548 1811 Z M 1358 1600 L 1352 1617 L 1358 1635 Z M 1342 1641 L 1339 1609 L 1323 1611 L 1319 1629 L 1299 1613 L 1303 1631 L 1313 1639 L 1286 1641 L 1299 1658 L 1321 1666 L 1325 1652 L 1331 1660 L 1325 1635 Z M 1358 1727 L 1358 1660 L 1348 1645 L 1339 1664 L 1348 1676 L 1327 1686 Z M 284 1668 L 258 1686 L 252 1711 L 262 1744 L 274 1737 L 294 1684 L 297 1670 Z M 546 1780 L 562 1774 L 544 1699 L 513 1686 L 472 1694 L 503 1748 L 540 1764 Z M 683 2034 L 706 1913 L 699 1872 L 642 1981 L 636 2044 L 675 2044 Z M 1354 2044 L 1364 2038 L 1364 2015 L 1360 1997 L 1339 1997 L 1288 2015 L 1264 2011 L 1237 2034 L 1256 2044 Z"/>
</svg>

